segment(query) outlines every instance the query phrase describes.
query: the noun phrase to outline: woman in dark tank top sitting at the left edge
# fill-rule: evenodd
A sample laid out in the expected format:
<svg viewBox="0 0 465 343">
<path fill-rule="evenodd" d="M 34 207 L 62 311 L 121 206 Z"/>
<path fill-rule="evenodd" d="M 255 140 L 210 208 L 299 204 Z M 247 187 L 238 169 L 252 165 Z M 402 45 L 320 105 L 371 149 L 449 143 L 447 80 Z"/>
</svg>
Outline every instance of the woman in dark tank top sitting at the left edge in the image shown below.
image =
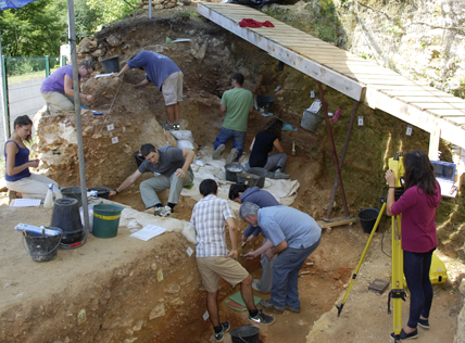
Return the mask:
<svg viewBox="0 0 465 343">
<path fill-rule="evenodd" d="M 45 199 L 49 185 L 53 183 L 55 196 L 61 198 L 59 185 L 55 181 L 29 172 L 29 167 L 39 166 L 39 160 L 29 161 L 29 149 L 24 144 L 24 141 L 30 141 L 32 130 L 33 120 L 27 115 L 18 116 L 14 120 L 14 132 L 4 147 L 7 188 L 16 194 L 21 193 L 23 198 Z"/>
</svg>

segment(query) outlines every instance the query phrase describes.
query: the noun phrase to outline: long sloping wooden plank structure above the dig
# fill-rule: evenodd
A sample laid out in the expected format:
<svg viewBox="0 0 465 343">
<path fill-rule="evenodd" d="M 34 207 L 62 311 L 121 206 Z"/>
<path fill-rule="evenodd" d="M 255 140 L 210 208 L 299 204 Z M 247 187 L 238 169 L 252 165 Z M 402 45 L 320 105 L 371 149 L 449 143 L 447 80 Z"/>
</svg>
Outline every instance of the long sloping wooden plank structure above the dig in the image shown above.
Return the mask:
<svg viewBox="0 0 465 343">
<path fill-rule="evenodd" d="M 440 130 L 441 138 L 465 148 L 463 99 L 357 58 L 249 7 L 200 2 L 197 12 L 345 96 L 425 131 Z M 275 27 L 240 27 L 242 18 L 269 21 Z"/>
</svg>

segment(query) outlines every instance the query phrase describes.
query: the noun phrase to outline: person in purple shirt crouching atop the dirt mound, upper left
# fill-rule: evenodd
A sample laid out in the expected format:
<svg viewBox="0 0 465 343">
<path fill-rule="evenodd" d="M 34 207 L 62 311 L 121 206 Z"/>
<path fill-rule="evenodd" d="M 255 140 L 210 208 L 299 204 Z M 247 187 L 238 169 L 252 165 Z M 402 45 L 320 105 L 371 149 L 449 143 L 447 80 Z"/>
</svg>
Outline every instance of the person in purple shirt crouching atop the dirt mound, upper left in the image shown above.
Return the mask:
<svg viewBox="0 0 465 343">
<path fill-rule="evenodd" d="M 80 78 L 89 77 L 96 69 L 91 61 L 80 62 L 77 66 L 77 74 Z M 42 86 L 40 86 L 40 93 L 49 105 L 51 114 L 58 111 L 74 111 L 74 90 L 73 90 L 73 66 L 64 65 L 54 71 L 47 77 Z M 79 93 L 79 99 L 95 102 L 92 94 Z M 80 103 L 79 103 L 80 106 Z"/>
</svg>

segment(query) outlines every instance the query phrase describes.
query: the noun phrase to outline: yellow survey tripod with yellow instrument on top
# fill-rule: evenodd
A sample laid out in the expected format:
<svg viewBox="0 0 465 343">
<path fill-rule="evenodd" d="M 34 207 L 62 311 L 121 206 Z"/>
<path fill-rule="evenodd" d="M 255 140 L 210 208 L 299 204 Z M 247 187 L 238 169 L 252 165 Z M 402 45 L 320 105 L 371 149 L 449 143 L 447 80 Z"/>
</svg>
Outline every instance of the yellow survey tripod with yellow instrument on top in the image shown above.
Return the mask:
<svg viewBox="0 0 465 343">
<path fill-rule="evenodd" d="M 394 199 L 395 201 L 403 194 L 403 176 L 404 176 L 404 165 L 403 165 L 403 152 L 398 152 L 394 154 L 394 157 L 389 158 L 388 162 L 389 169 L 394 172 L 395 175 L 395 190 Z M 373 237 L 378 228 L 379 221 L 381 220 L 382 214 L 386 209 L 387 198 L 381 199 L 381 211 L 379 212 L 378 218 L 376 219 L 375 226 L 373 227 L 372 233 L 369 234 L 368 241 L 366 242 L 365 249 L 363 250 L 362 257 L 359 261 L 359 264 L 355 268 L 352 279 L 350 281 L 349 288 L 345 291 L 345 295 L 340 305 L 336 305 L 338 308 L 338 317 L 340 316 L 342 308 L 344 307 L 345 301 L 349 296 L 349 293 L 352 289 L 353 282 L 356 279 L 362 262 L 365 258 L 366 252 L 368 251 L 369 244 L 372 243 Z M 391 232 L 392 232 L 392 252 L 391 252 L 391 291 L 389 292 L 388 298 L 388 314 L 391 314 L 390 301 L 393 300 L 394 307 L 394 317 L 393 317 L 393 328 L 394 328 L 394 341 L 400 342 L 400 333 L 402 330 L 402 303 L 405 301 L 406 292 L 404 290 L 404 279 L 403 279 L 403 253 L 401 247 L 401 215 L 391 217 Z M 397 230 L 395 230 L 397 229 Z"/>
</svg>

